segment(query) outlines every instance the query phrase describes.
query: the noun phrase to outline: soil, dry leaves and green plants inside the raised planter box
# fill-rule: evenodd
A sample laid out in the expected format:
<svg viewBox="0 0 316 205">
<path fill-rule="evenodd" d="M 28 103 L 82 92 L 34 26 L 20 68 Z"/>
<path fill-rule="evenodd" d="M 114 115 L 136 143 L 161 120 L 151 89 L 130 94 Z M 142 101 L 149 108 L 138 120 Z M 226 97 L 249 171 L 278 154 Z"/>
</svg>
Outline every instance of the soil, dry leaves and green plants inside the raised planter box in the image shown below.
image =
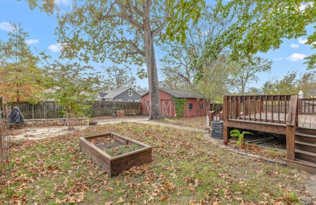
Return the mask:
<svg viewBox="0 0 316 205">
<path fill-rule="evenodd" d="M 115 157 L 118 155 L 123 155 L 135 150 L 139 150 L 142 147 L 137 144 L 125 145 L 121 141 L 107 136 L 107 137 L 98 137 L 97 139 L 90 140 L 90 143 L 107 153 L 108 155 Z"/>
</svg>

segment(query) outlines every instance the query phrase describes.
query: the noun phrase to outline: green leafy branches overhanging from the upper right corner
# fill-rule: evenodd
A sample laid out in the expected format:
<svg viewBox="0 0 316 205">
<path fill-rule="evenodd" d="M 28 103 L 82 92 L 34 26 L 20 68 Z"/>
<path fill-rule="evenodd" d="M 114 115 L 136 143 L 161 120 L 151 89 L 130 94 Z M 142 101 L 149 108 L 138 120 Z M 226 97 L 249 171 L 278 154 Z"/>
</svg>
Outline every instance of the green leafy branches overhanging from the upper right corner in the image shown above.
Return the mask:
<svg viewBox="0 0 316 205">
<path fill-rule="evenodd" d="M 234 15 L 236 21 L 218 41 L 206 43 L 207 55 L 220 52 L 222 45 L 226 45 L 232 56 L 239 59 L 277 49 L 284 38 L 306 36 L 307 26 L 316 22 L 316 6 L 314 0 L 218 0 L 215 15 Z M 315 49 L 316 31 L 307 39 L 307 44 Z M 316 68 L 316 54 L 306 59 L 308 69 Z"/>
</svg>

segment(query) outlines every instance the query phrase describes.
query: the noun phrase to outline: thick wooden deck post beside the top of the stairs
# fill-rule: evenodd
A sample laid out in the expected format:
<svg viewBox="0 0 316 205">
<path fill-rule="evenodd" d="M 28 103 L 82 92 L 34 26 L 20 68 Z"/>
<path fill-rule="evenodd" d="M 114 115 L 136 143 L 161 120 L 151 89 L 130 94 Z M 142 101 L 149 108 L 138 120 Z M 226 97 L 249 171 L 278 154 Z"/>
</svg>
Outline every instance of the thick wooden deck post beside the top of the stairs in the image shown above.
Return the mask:
<svg viewBox="0 0 316 205">
<path fill-rule="evenodd" d="M 292 95 L 286 120 L 286 159 L 295 160 L 295 129 L 298 118 L 298 95 Z"/>
</svg>

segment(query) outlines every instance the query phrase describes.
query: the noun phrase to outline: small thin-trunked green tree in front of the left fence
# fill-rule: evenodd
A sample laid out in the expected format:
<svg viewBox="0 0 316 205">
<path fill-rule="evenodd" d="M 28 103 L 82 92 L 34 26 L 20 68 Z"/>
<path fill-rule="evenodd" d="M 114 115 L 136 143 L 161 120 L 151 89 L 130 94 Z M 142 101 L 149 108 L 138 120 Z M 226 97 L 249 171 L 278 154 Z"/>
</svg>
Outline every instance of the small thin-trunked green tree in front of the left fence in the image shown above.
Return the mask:
<svg viewBox="0 0 316 205">
<path fill-rule="evenodd" d="M 81 112 L 86 109 L 83 103 L 94 98 L 94 87 L 100 83 L 100 76 L 93 71 L 91 66 L 56 60 L 45 66 L 45 87 L 52 91 L 44 92 L 44 97 L 54 99 L 65 108 L 69 129 L 74 128 L 74 117 L 82 117 Z"/>
</svg>

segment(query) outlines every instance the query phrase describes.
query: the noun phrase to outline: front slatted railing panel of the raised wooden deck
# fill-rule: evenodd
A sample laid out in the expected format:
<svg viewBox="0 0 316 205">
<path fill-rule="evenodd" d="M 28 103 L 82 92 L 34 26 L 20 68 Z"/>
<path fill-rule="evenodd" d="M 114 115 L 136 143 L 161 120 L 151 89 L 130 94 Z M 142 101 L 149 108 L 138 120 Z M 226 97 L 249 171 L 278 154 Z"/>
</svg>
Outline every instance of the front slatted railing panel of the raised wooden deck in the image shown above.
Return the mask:
<svg viewBox="0 0 316 205">
<path fill-rule="evenodd" d="M 286 124 L 291 95 L 224 96 L 224 120 Z"/>
</svg>

